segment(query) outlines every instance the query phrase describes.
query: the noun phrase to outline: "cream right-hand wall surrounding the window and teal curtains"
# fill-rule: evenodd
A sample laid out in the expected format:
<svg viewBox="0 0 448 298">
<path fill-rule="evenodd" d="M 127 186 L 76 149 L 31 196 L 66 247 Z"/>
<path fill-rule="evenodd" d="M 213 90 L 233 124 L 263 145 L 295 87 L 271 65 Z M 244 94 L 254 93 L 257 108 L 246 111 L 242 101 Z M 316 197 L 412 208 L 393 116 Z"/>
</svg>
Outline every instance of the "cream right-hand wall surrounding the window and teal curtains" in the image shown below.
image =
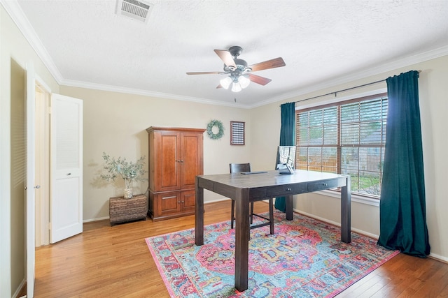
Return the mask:
<svg viewBox="0 0 448 298">
<path fill-rule="evenodd" d="M 423 136 L 426 214 L 431 255 L 448 261 L 448 216 L 446 216 L 448 200 L 446 199 L 447 194 L 444 188 L 444 177 L 446 177 L 446 170 L 448 169 L 448 159 L 445 153 L 448 147 L 448 138 L 445 137 L 445 130 L 448 127 L 448 117 L 446 116 L 448 111 L 448 56 L 405 68 L 398 68 L 381 75 L 353 80 L 353 82 L 348 84 L 339 84 L 328 89 L 283 100 L 281 103 L 299 101 L 313 96 L 328 94 L 332 91 L 376 82 L 409 70 L 421 70 L 419 100 Z M 342 92 L 337 97 L 353 96 L 353 94 L 370 92 L 374 89 L 384 89 L 385 87 L 386 83 L 382 82 L 369 87 Z M 334 95 L 307 100 L 297 103 L 296 106 L 322 103 L 332 98 L 334 98 Z M 258 167 L 273 167 L 272 161 L 274 159 L 266 159 L 263 156 L 274 156 L 275 149 L 267 146 L 267 144 L 279 143 L 279 105 L 281 103 L 272 103 L 251 110 L 251 156 L 255 158 L 255 164 Z M 314 193 L 297 195 L 294 200 L 294 208 L 297 211 L 316 216 L 317 218 L 340 223 L 339 198 Z M 379 207 L 352 202 L 351 216 L 353 229 L 373 236 L 379 234 Z"/>
</svg>

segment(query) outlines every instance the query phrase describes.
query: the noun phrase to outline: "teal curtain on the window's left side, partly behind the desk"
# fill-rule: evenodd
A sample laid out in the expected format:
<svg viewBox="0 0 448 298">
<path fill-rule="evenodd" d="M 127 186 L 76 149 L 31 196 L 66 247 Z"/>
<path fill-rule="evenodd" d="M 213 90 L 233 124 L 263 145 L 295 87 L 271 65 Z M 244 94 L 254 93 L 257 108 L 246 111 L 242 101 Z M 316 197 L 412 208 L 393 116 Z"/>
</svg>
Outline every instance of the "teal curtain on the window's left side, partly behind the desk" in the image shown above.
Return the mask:
<svg viewBox="0 0 448 298">
<path fill-rule="evenodd" d="M 295 144 L 295 103 L 283 103 L 280 106 L 281 127 L 280 146 L 294 146 Z M 275 199 L 275 209 L 286 211 L 286 198 Z"/>
</svg>

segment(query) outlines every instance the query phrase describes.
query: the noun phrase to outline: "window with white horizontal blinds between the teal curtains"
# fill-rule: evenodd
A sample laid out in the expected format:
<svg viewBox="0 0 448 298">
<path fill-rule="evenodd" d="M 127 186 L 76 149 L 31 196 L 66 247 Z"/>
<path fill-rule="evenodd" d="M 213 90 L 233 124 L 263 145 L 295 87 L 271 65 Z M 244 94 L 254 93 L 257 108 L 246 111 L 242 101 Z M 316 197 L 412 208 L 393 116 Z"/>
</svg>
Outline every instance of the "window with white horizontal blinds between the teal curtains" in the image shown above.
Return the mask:
<svg viewBox="0 0 448 298">
<path fill-rule="evenodd" d="M 349 174 L 351 191 L 379 198 L 387 94 L 296 111 L 300 170 Z"/>
</svg>

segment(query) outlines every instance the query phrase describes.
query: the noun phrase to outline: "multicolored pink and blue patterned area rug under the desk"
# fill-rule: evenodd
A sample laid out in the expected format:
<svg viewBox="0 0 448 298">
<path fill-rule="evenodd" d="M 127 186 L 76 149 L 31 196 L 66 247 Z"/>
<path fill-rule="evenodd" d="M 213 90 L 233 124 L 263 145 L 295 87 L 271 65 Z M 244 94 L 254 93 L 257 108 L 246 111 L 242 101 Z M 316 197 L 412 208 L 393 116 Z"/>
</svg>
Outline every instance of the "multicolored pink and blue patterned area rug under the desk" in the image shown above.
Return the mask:
<svg viewBox="0 0 448 298">
<path fill-rule="evenodd" d="M 306 216 L 275 211 L 269 226 L 251 230 L 248 290 L 235 289 L 235 230 L 230 221 L 204 227 L 204 245 L 195 230 L 146 239 L 172 297 L 333 297 L 397 255 L 374 239 Z M 255 222 L 255 219 L 254 219 Z"/>
</svg>

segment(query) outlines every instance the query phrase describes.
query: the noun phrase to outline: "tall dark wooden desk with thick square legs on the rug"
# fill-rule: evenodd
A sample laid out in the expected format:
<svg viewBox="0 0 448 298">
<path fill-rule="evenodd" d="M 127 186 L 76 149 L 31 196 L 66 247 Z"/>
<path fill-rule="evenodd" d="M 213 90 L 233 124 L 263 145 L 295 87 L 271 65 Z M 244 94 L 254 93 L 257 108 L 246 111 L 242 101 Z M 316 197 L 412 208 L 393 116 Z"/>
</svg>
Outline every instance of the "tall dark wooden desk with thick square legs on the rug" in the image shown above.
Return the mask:
<svg viewBox="0 0 448 298">
<path fill-rule="evenodd" d="M 293 219 L 293 195 L 341 189 L 341 241 L 351 241 L 351 193 L 350 177 L 295 170 L 295 174 L 279 174 L 267 171 L 260 174 L 216 174 L 196 177 L 195 243 L 204 244 L 204 189 L 235 200 L 235 288 L 247 290 L 249 202 L 267 198 L 286 197 L 286 219 Z"/>
</svg>

